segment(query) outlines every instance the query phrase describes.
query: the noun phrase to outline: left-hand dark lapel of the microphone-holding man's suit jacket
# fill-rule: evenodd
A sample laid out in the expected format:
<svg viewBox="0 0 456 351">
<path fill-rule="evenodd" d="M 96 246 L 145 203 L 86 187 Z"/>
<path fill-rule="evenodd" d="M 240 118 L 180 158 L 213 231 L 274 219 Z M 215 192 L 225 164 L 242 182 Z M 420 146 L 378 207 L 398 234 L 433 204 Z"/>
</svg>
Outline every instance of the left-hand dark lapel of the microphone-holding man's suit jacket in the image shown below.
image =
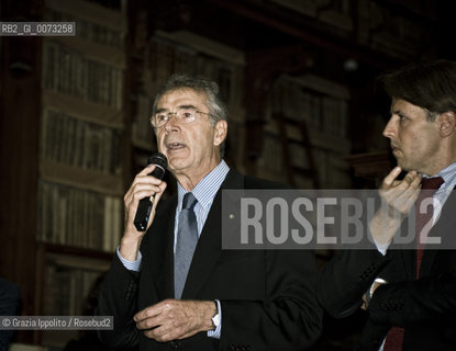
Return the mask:
<svg viewBox="0 0 456 351">
<path fill-rule="evenodd" d="M 174 297 L 174 225 L 177 196 L 166 202 L 157 213 L 148 235 L 147 249 L 152 270 L 152 281 L 159 299 Z"/>
</svg>

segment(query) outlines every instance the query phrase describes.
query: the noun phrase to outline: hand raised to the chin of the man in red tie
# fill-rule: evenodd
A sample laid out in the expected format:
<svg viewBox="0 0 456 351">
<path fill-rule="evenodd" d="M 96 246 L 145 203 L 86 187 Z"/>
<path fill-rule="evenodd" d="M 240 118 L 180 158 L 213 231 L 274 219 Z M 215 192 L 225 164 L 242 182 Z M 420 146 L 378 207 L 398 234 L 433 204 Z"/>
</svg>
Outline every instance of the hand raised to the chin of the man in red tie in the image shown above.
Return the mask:
<svg viewBox="0 0 456 351">
<path fill-rule="evenodd" d="M 420 194 L 421 174 L 410 171 L 403 180 L 396 180 L 400 172 L 401 168 L 394 167 L 378 191 L 381 207 L 369 223 L 370 233 L 378 244 L 385 245 L 392 240 Z"/>
</svg>

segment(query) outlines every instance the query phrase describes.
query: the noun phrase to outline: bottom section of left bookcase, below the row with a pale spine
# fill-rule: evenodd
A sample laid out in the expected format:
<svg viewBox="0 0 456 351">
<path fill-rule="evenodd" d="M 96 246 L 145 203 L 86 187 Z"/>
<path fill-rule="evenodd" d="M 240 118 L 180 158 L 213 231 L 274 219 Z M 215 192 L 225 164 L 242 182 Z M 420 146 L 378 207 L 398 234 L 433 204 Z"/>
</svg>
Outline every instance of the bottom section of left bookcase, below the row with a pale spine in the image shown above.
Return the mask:
<svg viewBox="0 0 456 351">
<path fill-rule="evenodd" d="M 90 313 L 91 299 L 112 253 L 80 249 L 67 245 L 40 244 L 36 276 L 36 315 L 82 316 Z M 35 341 L 48 350 L 65 348 L 68 340 L 77 339 L 77 330 L 48 330 L 37 333 Z"/>
</svg>

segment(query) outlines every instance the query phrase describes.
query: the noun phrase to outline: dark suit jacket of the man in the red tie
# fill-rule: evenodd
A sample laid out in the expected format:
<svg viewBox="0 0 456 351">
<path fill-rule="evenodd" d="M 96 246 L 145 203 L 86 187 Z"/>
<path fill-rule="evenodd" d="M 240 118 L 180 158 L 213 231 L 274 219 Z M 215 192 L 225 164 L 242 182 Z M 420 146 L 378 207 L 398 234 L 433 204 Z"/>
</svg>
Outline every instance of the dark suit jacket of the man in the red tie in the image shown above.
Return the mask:
<svg viewBox="0 0 456 351">
<path fill-rule="evenodd" d="M 378 350 L 391 326 L 404 328 L 403 350 L 456 350 L 455 197 L 430 233 L 443 238 L 442 249 L 424 251 L 418 280 L 415 250 L 341 251 L 323 268 L 319 299 L 335 317 L 357 310 L 376 278 L 388 281 L 370 301 L 359 350 Z"/>
</svg>

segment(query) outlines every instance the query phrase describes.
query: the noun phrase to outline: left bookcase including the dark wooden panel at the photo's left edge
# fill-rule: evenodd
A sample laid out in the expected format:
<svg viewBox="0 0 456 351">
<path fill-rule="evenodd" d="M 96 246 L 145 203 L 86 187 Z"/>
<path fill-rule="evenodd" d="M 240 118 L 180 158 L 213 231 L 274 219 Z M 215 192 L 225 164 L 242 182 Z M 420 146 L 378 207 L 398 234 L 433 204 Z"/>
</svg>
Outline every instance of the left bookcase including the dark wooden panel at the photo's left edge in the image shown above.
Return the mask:
<svg viewBox="0 0 456 351">
<path fill-rule="evenodd" d="M 74 21 L 78 35 L 1 38 L 8 171 L 0 274 L 20 285 L 23 315 L 80 315 L 123 226 L 126 9 L 121 1 L 118 10 L 85 0 L 27 3 L 33 18 L 20 21 Z M 71 337 L 20 331 L 15 338 L 59 350 Z"/>
</svg>

